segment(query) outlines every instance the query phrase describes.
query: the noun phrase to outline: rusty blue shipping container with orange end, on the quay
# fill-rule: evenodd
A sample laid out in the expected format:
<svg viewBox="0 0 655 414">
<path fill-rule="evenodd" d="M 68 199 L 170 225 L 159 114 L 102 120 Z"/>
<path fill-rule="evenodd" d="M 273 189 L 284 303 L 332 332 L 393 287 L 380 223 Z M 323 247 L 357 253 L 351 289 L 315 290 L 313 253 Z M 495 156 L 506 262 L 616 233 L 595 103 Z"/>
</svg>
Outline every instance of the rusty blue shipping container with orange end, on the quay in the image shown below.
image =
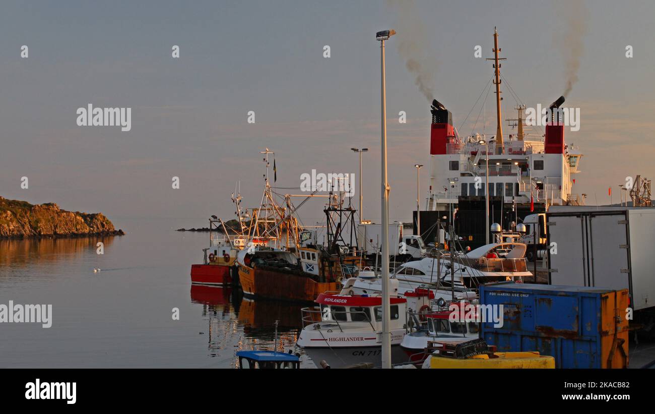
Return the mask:
<svg viewBox="0 0 655 414">
<path fill-rule="evenodd" d="M 558 368 L 627 367 L 627 290 L 498 282 L 479 291 L 481 305 L 503 306 L 502 326 L 480 324 L 498 352 L 536 350 Z"/>
</svg>

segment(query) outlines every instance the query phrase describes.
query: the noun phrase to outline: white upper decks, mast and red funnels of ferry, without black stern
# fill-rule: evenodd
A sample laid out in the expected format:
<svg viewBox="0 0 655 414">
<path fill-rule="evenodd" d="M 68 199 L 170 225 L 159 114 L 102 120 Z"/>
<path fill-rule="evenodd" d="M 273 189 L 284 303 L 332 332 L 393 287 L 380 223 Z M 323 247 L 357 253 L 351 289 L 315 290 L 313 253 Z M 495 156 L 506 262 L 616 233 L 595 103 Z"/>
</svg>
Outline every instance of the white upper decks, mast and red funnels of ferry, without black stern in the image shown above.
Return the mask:
<svg viewBox="0 0 655 414">
<path fill-rule="evenodd" d="M 525 105 L 517 105 L 517 119 L 509 120 L 517 130 L 502 132 L 500 61 L 498 32 L 493 49 L 496 89 L 496 134 L 462 137 L 453 124 L 453 114 L 434 100 L 430 108 L 430 189 L 425 209 L 451 212 L 460 197 L 485 196 L 487 158 L 489 197 L 502 197 L 505 204 L 534 203 L 544 211 L 550 205 L 584 204 L 583 195 L 574 193 L 574 174 L 578 173 L 581 153 L 565 143 L 564 123 L 555 116 L 544 126 L 543 134 L 525 134 Z M 563 104 L 563 97 L 551 109 Z M 540 114 L 537 114 L 541 117 Z M 540 131 L 541 132 L 541 131 Z M 502 137 L 502 139 L 498 139 Z M 476 185 L 477 183 L 477 185 Z"/>
</svg>

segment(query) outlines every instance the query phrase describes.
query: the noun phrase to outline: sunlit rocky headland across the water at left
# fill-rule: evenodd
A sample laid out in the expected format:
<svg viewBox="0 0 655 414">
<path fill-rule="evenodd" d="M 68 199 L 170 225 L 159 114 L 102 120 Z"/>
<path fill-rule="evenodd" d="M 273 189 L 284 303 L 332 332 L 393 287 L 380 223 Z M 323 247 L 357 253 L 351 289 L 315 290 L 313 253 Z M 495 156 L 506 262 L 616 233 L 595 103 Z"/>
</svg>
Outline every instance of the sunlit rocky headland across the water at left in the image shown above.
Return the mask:
<svg viewBox="0 0 655 414">
<path fill-rule="evenodd" d="M 29 204 L 0 197 L 0 240 L 124 234 L 102 213 L 69 212 L 52 202 Z"/>
</svg>

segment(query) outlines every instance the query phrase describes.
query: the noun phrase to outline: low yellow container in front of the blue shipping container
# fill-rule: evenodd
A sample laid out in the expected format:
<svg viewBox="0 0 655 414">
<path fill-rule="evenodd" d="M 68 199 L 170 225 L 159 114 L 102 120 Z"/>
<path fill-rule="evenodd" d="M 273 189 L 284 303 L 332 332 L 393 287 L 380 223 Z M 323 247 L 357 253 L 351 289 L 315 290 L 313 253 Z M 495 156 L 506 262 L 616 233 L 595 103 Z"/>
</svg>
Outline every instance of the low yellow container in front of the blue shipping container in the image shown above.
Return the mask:
<svg viewBox="0 0 655 414">
<path fill-rule="evenodd" d="M 555 368 L 555 358 L 541 356 L 539 352 L 495 352 L 458 359 L 433 355 L 430 359 L 432 369 L 453 368 Z"/>
</svg>

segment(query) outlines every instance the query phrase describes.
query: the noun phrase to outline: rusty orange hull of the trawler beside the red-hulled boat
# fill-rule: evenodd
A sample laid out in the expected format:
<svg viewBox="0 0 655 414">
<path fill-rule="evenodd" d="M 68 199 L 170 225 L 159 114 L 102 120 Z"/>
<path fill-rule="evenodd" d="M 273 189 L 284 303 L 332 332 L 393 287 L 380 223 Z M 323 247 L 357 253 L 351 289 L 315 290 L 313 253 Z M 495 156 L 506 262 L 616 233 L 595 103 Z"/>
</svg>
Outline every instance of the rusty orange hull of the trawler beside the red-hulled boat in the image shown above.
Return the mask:
<svg viewBox="0 0 655 414">
<path fill-rule="evenodd" d="M 339 290 L 337 282 L 316 282 L 309 276 L 239 266 L 239 281 L 246 297 L 264 297 L 312 303 L 320 293 Z"/>
</svg>

